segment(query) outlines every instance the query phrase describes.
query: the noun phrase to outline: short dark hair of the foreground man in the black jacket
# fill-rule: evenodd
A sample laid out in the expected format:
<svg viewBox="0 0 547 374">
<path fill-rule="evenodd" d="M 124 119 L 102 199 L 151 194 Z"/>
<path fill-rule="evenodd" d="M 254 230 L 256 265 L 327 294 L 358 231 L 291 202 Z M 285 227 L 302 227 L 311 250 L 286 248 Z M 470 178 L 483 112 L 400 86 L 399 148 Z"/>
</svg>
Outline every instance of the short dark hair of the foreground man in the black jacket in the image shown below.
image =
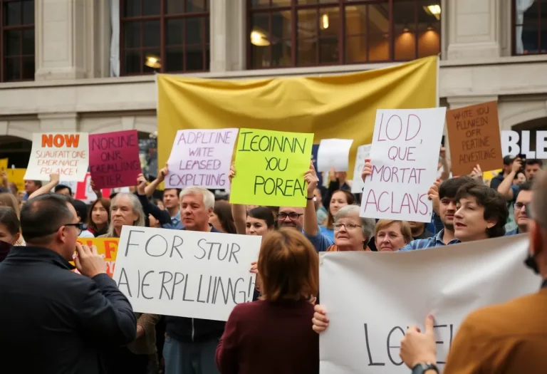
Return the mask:
<svg viewBox="0 0 547 374">
<path fill-rule="evenodd" d="M 21 209 L 21 233 L 25 241 L 45 244 L 61 226 L 71 223 L 70 200 L 62 194 L 41 194 L 29 199 Z"/>
</svg>

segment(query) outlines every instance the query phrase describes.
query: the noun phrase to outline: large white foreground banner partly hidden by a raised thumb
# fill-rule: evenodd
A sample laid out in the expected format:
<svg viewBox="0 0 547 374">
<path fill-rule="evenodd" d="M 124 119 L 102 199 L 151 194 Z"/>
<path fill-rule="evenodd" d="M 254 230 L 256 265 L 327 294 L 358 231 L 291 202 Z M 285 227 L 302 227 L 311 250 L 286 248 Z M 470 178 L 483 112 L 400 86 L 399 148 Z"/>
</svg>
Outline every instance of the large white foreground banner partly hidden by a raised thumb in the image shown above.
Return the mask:
<svg viewBox="0 0 547 374">
<path fill-rule="evenodd" d="M 501 237 L 410 252 L 322 252 L 321 374 L 407 374 L 399 356 L 407 327 L 435 317 L 437 361 L 444 361 L 469 312 L 536 292 L 523 264 L 528 237 Z"/>
</svg>

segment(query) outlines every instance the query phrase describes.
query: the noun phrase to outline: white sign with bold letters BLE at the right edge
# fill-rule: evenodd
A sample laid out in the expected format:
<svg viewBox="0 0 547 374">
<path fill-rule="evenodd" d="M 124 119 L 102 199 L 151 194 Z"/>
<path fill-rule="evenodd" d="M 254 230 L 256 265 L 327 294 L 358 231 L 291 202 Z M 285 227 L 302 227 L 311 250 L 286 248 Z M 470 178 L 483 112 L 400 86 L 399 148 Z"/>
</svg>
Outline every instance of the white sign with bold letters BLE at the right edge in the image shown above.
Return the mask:
<svg viewBox="0 0 547 374">
<path fill-rule="evenodd" d="M 547 131 L 534 131 L 536 133 L 536 150 L 530 150 L 529 130 L 522 130 L 521 136 L 513 130 L 501 131 L 501 151 L 504 156 L 526 155 L 527 159 L 547 159 Z"/>
</svg>

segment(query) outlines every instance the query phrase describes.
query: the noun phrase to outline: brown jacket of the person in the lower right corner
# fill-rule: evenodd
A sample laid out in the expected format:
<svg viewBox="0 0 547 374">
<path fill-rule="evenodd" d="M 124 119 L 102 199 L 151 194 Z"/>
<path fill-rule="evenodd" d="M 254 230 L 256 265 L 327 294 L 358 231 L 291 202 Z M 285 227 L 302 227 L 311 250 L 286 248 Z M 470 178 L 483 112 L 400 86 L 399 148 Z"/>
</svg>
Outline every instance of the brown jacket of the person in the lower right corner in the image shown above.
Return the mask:
<svg viewBox="0 0 547 374">
<path fill-rule="evenodd" d="M 547 373 L 547 289 L 465 318 L 444 374 Z"/>
</svg>

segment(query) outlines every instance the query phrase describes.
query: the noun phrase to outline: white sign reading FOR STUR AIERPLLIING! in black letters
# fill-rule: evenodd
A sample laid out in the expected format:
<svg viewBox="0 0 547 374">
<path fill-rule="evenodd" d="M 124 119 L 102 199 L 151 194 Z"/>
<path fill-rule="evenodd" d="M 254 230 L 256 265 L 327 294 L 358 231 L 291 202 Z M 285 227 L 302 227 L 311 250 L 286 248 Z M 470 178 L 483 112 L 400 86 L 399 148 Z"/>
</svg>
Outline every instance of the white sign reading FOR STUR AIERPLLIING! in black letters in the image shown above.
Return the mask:
<svg viewBox="0 0 547 374">
<path fill-rule="evenodd" d="M 308 160 L 309 162 L 309 160 Z M 261 237 L 124 226 L 114 280 L 133 310 L 226 321 L 252 301 Z"/>
</svg>

